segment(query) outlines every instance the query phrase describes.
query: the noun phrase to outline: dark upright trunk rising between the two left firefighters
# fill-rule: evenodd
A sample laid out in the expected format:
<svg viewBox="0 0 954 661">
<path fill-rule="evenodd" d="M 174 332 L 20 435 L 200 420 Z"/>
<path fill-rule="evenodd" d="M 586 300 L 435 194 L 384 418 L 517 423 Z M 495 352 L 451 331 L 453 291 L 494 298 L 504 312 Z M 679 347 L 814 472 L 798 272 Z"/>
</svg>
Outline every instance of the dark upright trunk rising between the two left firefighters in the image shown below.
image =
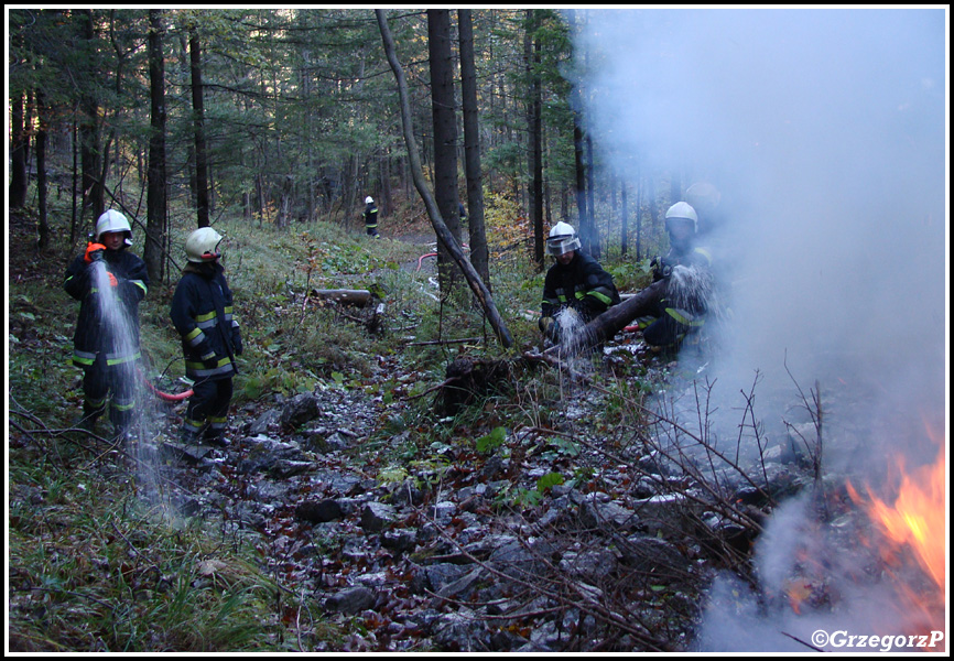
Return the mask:
<svg viewBox="0 0 954 661">
<path fill-rule="evenodd" d="M 149 184 L 147 193 L 145 246 L 142 251 L 149 279 L 160 282 L 163 275 L 162 239 L 166 232 L 165 192 L 165 63 L 162 56 L 162 10 L 149 10 Z"/>
</svg>

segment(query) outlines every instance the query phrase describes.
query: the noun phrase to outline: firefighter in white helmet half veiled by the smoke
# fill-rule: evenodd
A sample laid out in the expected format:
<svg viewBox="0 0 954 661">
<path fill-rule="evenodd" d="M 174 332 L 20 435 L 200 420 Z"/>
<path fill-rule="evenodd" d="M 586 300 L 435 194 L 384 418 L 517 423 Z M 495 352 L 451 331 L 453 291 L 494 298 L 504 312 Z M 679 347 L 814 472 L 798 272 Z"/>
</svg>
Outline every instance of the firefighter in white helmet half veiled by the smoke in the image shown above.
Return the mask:
<svg viewBox="0 0 954 661">
<path fill-rule="evenodd" d="M 652 280 L 668 280 L 665 295 L 637 314 L 638 325 L 648 345 L 677 348 L 691 333 L 705 324 L 712 296 L 712 253 L 695 245 L 698 216 L 685 202 L 677 202 L 665 213 L 670 251 L 650 262 Z"/>
</svg>

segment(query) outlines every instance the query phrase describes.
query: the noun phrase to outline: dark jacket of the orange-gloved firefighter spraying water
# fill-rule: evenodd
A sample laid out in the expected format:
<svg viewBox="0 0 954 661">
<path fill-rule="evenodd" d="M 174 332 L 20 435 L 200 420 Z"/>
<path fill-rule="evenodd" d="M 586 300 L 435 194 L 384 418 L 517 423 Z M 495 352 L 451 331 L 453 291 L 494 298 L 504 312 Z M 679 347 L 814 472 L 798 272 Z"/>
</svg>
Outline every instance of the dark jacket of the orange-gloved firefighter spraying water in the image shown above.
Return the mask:
<svg viewBox="0 0 954 661">
<path fill-rule="evenodd" d="M 105 354 L 107 366 L 116 366 L 140 357 L 139 350 L 139 303 L 149 291 L 149 274 L 145 262 L 129 252 L 104 250 L 106 269 L 117 280 L 109 292 L 100 292 L 96 286 L 96 263 L 86 263 L 80 254 L 66 269 L 63 289 L 80 302 L 76 332 L 73 335 L 73 364 L 89 367 L 98 354 Z M 100 295 L 116 295 L 116 310 L 119 319 L 104 317 Z"/>
</svg>

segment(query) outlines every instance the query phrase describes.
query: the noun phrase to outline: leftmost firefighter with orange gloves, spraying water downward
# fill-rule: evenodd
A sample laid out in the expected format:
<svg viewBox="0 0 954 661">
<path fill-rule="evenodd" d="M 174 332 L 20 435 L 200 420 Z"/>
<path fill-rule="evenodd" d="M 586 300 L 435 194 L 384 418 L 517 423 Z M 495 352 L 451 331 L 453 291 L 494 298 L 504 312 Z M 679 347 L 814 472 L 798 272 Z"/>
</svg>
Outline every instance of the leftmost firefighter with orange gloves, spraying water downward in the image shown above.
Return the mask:
<svg viewBox="0 0 954 661">
<path fill-rule="evenodd" d="M 135 407 L 139 303 L 149 291 L 145 262 L 127 250 L 129 246 L 129 220 L 109 209 L 96 221 L 86 252 L 73 260 L 63 283 L 80 302 L 73 336 L 73 364 L 83 368 L 79 426 L 95 431 L 111 393 L 109 420 L 120 440 L 129 433 Z"/>
</svg>

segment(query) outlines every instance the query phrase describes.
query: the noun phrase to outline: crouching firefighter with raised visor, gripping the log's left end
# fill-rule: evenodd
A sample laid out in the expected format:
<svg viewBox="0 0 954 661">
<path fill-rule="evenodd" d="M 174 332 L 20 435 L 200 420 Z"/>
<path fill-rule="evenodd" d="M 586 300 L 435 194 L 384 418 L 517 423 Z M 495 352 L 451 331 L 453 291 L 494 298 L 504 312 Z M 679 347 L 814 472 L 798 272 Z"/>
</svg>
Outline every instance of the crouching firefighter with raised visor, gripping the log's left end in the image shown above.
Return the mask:
<svg viewBox="0 0 954 661">
<path fill-rule="evenodd" d="M 543 281 L 543 304 L 538 322 L 540 330 L 553 343 L 560 342 L 557 314 L 573 310 L 586 324 L 619 303 L 619 292 L 599 263 L 581 251 L 576 230 L 567 223 L 557 223 L 550 230 L 546 251 L 556 263 L 546 271 Z"/>
</svg>

